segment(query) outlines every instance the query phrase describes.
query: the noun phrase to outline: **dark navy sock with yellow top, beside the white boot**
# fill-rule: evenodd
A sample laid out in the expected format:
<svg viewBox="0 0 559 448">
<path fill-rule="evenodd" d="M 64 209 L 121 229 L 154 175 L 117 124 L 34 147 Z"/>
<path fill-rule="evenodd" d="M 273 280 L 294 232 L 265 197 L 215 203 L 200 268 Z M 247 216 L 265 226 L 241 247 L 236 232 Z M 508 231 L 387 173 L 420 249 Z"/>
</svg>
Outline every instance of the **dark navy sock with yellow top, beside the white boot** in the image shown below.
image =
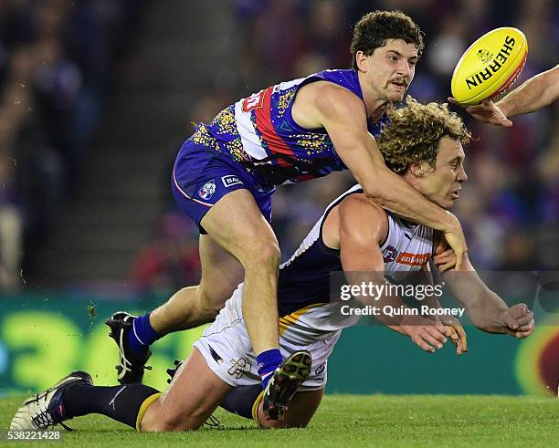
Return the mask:
<svg viewBox="0 0 559 448">
<path fill-rule="evenodd" d="M 137 429 L 138 414 L 145 412 L 145 408 L 142 409 L 143 402 L 155 394 L 159 396 L 159 391 L 139 383 L 109 387 L 78 383 L 64 391 L 62 405 L 70 419 L 100 413 Z"/>
</svg>

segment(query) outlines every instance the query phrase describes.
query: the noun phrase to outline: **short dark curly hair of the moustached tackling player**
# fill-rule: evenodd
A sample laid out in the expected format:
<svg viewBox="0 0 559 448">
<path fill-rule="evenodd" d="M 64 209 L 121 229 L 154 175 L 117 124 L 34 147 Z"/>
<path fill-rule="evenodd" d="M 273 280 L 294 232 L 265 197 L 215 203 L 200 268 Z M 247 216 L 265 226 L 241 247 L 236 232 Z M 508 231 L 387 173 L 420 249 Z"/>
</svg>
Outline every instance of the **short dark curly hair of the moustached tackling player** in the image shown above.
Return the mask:
<svg viewBox="0 0 559 448">
<path fill-rule="evenodd" d="M 419 26 L 401 11 L 373 11 L 365 14 L 353 28 L 350 50 L 352 68 L 357 70 L 355 55 L 363 51 L 371 56 L 378 47 L 385 47 L 387 39 L 402 39 L 407 44 L 415 44 L 417 56 L 423 51 L 423 36 Z"/>
</svg>

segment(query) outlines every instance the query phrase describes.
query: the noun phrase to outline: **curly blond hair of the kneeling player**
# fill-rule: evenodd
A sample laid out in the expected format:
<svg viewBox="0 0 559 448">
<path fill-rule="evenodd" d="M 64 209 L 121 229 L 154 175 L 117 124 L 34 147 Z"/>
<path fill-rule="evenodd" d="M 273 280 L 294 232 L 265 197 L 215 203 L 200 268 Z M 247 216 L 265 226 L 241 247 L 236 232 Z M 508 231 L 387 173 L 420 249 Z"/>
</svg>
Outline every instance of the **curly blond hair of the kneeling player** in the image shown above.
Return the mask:
<svg viewBox="0 0 559 448">
<path fill-rule="evenodd" d="M 456 139 L 467 145 L 469 130 L 459 116 L 448 110 L 448 104 L 418 103 L 406 98 L 406 107 L 389 109 L 391 125 L 384 126 L 377 139 L 388 168 L 398 174 L 421 161 L 437 168 L 438 141 L 442 137 Z"/>
</svg>

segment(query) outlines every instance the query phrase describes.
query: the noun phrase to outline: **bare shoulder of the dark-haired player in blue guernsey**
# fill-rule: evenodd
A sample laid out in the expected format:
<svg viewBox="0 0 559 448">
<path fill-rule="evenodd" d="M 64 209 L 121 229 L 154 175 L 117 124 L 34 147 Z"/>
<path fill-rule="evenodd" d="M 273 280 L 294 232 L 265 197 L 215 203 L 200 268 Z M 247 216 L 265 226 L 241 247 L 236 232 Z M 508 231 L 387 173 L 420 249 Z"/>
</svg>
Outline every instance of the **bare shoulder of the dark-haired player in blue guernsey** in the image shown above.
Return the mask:
<svg viewBox="0 0 559 448">
<path fill-rule="evenodd" d="M 350 90 L 329 81 L 315 81 L 302 86 L 291 113 L 293 120 L 306 129 L 324 128 L 326 118 L 345 118 L 347 114 L 354 114 L 366 123 L 363 101 Z"/>
</svg>

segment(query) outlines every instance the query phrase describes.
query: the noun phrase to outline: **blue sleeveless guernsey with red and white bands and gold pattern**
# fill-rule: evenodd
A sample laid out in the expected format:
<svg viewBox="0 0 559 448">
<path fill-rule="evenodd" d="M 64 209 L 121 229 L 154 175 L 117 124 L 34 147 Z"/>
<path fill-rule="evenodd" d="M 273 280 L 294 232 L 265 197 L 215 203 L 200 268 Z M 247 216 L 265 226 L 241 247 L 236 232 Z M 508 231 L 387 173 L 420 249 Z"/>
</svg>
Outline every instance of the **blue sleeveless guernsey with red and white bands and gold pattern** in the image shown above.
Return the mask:
<svg viewBox="0 0 559 448">
<path fill-rule="evenodd" d="M 324 70 L 238 100 L 219 112 L 209 125 L 200 124 L 189 140 L 226 153 L 264 190 L 346 170 L 326 130 L 301 128 L 291 115 L 297 91 L 319 80 L 342 86 L 363 100 L 356 71 Z M 375 123 L 369 122 L 368 129 L 378 137 L 382 125 L 388 122 L 384 115 Z"/>
</svg>

